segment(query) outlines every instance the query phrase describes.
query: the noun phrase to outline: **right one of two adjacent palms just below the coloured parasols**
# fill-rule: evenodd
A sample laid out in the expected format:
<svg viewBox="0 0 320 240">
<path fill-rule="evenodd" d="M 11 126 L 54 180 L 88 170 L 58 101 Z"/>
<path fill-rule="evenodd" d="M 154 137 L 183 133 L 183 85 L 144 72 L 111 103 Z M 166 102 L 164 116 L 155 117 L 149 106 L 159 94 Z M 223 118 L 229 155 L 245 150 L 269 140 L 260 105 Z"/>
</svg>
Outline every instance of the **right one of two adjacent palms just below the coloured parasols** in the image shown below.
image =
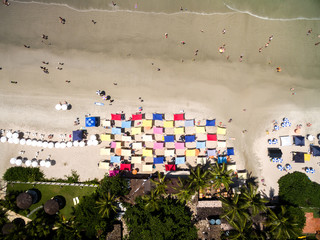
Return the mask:
<svg viewBox="0 0 320 240">
<path fill-rule="evenodd" d="M 211 179 L 214 181 L 214 188 L 218 189 L 223 184 L 227 190 L 229 190 L 229 185 L 233 183 L 232 178 L 232 170 L 227 170 L 225 163 L 216 165 L 210 171 Z"/>
</svg>

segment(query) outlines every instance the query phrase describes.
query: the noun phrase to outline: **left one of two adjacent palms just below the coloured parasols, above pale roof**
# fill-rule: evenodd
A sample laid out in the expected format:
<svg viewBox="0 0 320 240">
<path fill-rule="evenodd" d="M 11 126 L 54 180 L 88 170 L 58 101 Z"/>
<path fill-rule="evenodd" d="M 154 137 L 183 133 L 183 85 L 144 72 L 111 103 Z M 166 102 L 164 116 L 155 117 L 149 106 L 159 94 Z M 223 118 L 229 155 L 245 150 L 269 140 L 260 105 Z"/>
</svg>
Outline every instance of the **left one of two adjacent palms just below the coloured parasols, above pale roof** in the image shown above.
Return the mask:
<svg viewBox="0 0 320 240">
<path fill-rule="evenodd" d="M 189 187 L 192 191 L 199 191 L 209 185 L 209 171 L 205 171 L 199 165 L 195 169 L 190 169 Z"/>
</svg>

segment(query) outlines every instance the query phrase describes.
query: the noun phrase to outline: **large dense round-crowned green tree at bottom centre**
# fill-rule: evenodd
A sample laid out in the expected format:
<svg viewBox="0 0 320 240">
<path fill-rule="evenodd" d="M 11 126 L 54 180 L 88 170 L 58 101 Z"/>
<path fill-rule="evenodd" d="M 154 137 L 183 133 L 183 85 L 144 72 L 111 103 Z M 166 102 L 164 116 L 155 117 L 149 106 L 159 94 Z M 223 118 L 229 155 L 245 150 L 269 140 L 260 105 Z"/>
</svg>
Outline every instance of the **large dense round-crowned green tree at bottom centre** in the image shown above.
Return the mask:
<svg viewBox="0 0 320 240">
<path fill-rule="evenodd" d="M 147 207 L 150 200 L 138 198 L 136 205 L 127 209 L 124 217 L 130 231 L 129 239 L 197 239 L 190 209 L 171 197 L 159 196 L 158 199 L 157 208 Z"/>
</svg>

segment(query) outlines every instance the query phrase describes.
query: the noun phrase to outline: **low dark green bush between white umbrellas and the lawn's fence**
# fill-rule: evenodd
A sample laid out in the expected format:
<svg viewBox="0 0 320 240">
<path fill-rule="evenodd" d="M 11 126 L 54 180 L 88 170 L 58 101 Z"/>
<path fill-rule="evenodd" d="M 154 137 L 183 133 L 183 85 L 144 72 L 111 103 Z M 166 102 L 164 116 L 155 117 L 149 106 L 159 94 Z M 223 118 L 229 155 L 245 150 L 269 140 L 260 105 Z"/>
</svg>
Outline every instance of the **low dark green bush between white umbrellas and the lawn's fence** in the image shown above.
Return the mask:
<svg viewBox="0 0 320 240">
<path fill-rule="evenodd" d="M 44 180 L 44 174 L 39 168 L 11 167 L 3 175 L 6 181 L 34 182 Z"/>
</svg>

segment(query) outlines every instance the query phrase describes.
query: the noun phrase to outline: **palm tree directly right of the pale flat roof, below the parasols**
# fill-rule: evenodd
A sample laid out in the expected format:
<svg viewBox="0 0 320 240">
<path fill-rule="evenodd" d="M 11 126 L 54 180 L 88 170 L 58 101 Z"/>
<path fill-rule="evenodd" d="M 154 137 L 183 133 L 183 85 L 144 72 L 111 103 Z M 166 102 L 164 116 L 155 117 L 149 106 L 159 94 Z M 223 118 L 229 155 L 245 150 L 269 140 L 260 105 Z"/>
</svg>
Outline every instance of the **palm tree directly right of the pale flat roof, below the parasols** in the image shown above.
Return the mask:
<svg viewBox="0 0 320 240">
<path fill-rule="evenodd" d="M 222 218 L 230 219 L 230 221 L 235 221 L 235 219 L 250 219 L 247 212 L 249 204 L 242 201 L 239 194 L 236 193 L 233 198 L 221 197 L 220 200 L 223 203 L 225 211 Z"/>
</svg>

